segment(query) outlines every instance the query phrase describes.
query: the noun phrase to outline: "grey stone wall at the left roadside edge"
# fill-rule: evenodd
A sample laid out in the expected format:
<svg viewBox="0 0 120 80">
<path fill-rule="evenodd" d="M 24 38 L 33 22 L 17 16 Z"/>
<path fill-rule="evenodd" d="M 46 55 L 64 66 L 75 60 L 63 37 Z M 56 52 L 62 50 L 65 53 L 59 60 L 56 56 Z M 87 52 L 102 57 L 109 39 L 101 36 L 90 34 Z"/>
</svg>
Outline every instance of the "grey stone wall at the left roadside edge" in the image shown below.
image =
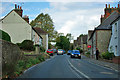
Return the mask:
<svg viewBox="0 0 120 80">
<path fill-rule="evenodd" d="M 22 58 L 22 52 L 16 44 L 0 40 L 2 46 L 2 77 L 12 75 L 17 61 Z"/>
</svg>

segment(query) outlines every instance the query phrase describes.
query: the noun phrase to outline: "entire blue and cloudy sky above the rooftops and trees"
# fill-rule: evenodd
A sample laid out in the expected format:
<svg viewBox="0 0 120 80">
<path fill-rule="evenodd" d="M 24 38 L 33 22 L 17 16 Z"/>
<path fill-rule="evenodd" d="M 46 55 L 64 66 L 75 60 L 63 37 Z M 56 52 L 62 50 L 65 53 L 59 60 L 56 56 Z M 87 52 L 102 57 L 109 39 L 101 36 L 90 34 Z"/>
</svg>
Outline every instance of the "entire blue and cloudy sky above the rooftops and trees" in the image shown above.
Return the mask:
<svg viewBox="0 0 120 80">
<path fill-rule="evenodd" d="M 105 4 L 117 7 L 119 0 L 4 0 L 0 5 L 0 18 L 7 15 L 14 4 L 22 6 L 23 15 L 30 21 L 40 13 L 49 14 L 59 33 L 71 33 L 76 39 L 80 34 L 87 34 L 100 24 Z"/>
</svg>

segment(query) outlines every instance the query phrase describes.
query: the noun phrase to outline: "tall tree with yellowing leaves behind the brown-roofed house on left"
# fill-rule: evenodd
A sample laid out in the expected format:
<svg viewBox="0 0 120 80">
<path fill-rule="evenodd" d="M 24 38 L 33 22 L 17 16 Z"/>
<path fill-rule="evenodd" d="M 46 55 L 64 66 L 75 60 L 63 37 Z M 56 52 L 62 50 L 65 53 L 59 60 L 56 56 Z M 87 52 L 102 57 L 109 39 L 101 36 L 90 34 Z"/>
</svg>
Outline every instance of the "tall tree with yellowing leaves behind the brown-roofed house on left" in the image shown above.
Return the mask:
<svg viewBox="0 0 120 80">
<path fill-rule="evenodd" d="M 40 27 L 46 31 L 49 34 L 49 41 L 52 41 L 56 38 L 57 31 L 54 30 L 55 27 L 50 15 L 41 13 L 35 18 L 35 20 L 31 21 L 30 25 L 32 27 Z"/>
</svg>

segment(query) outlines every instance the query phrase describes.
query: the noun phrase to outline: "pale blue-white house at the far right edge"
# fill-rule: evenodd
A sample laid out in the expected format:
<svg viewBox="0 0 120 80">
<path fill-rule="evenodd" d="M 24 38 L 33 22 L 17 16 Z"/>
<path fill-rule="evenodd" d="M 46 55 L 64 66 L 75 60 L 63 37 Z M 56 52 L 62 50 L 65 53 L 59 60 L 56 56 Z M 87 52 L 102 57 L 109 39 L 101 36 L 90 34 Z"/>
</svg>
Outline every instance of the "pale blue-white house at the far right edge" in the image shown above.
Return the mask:
<svg viewBox="0 0 120 80">
<path fill-rule="evenodd" d="M 109 52 L 113 52 L 115 56 L 120 56 L 120 13 L 116 13 L 116 19 L 110 24 L 112 35 L 108 47 Z"/>
</svg>

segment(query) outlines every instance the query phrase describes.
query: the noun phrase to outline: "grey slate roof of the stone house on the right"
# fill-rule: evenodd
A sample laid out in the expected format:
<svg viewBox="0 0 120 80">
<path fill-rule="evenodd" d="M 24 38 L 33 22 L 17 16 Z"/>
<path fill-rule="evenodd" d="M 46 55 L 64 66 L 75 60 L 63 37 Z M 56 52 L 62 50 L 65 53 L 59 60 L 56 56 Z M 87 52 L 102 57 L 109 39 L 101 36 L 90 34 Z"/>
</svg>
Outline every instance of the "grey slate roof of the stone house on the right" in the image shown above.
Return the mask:
<svg viewBox="0 0 120 80">
<path fill-rule="evenodd" d="M 96 27 L 91 34 L 89 40 L 92 38 L 94 32 L 96 30 L 111 30 L 111 23 L 113 23 L 118 17 L 120 17 L 120 13 L 114 11 L 109 17 L 107 17 L 98 27 Z"/>
</svg>

